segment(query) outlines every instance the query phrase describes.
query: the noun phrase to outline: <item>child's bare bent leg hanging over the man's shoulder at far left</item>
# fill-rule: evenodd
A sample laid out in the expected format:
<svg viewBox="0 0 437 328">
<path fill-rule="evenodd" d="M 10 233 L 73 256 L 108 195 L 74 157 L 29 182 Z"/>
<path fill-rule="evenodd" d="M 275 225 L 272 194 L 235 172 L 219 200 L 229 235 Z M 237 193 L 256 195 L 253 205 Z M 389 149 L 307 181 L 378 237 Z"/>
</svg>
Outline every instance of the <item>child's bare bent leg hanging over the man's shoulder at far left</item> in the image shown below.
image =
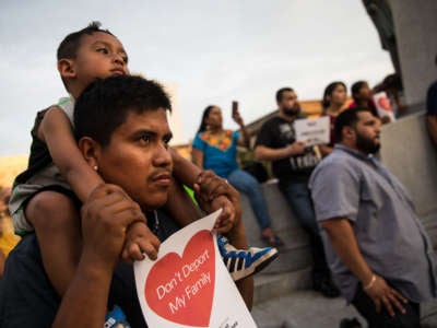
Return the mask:
<svg viewBox="0 0 437 328">
<path fill-rule="evenodd" d="M 35 195 L 25 209 L 35 227 L 44 268 L 59 295 L 74 274 L 80 251 L 80 213 L 74 201 L 56 191 Z"/>
</svg>

